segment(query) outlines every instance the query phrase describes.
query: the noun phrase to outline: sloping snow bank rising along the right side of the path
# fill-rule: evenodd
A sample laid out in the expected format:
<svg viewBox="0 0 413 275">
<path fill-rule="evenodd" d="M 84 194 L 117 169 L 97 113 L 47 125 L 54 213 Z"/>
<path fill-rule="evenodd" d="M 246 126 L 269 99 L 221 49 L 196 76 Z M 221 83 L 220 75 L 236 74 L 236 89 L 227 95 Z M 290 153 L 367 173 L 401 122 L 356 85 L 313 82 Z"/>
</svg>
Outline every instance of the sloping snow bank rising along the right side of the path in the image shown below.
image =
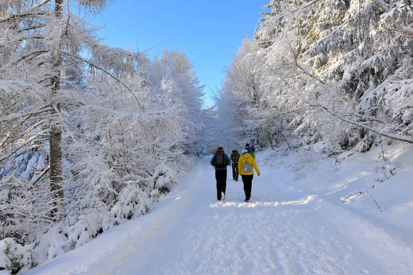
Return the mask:
<svg viewBox="0 0 413 275">
<path fill-rule="evenodd" d="M 323 199 L 346 207 L 413 244 L 413 146 L 385 145 L 367 153 L 324 157 L 308 150 L 266 151 L 276 175 Z"/>
</svg>

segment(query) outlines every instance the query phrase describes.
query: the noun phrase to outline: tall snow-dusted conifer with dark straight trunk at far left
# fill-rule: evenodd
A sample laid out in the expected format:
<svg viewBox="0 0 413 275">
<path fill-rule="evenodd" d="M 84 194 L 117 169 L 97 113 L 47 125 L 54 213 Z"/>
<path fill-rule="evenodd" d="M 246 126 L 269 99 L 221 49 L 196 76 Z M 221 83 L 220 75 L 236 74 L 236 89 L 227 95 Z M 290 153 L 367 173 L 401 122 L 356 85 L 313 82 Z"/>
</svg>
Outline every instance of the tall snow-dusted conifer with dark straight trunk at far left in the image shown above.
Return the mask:
<svg viewBox="0 0 413 275">
<path fill-rule="evenodd" d="M 105 2 L 80 3 L 85 8 L 102 8 Z M 138 112 L 143 111 L 138 100 L 142 87 L 136 76 L 147 58 L 139 52 L 100 45 L 94 29 L 61 0 L 8 1 L 1 9 L 0 169 L 9 182 L 0 187 L 9 192 L 1 210 L 8 213 L 3 216 L 8 232 L 32 223 L 20 236 L 27 241 L 39 225 L 45 228 L 67 216 L 70 207 L 65 199 L 69 196 L 64 192 L 79 171 L 64 171 L 63 161 L 71 163 L 76 151 L 70 149 L 76 150 L 75 144 L 94 142 L 87 131 L 92 121 L 82 123 L 82 115 L 96 118 L 90 114 L 95 111 L 96 115 L 98 106 L 107 100 L 103 94 L 112 96 L 114 91 L 111 100 L 122 94 L 124 101 L 132 100 Z M 99 100 L 92 93 L 96 82 L 105 86 Z M 100 115 L 108 112 L 105 109 Z M 8 188 L 13 184 L 19 190 Z M 25 195 L 16 201 L 16 192 Z M 17 211 L 19 203 L 24 207 Z M 14 214 L 6 208 L 14 209 Z"/>
</svg>

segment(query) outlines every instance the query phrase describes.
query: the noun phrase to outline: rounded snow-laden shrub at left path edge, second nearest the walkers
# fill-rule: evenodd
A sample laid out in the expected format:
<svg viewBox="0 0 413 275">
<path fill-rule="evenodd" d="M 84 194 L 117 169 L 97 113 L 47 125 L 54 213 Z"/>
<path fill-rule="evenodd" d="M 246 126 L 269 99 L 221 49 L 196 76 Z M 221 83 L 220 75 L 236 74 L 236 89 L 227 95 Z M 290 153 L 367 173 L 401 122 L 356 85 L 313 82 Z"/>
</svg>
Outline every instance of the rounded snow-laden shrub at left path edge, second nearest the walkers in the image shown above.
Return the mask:
<svg viewBox="0 0 413 275">
<path fill-rule="evenodd" d="M 146 214 L 150 204 L 147 193 L 140 189 L 137 182 L 132 181 L 120 191 L 118 202 L 112 208 L 110 216 L 134 219 Z"/>
</svg>

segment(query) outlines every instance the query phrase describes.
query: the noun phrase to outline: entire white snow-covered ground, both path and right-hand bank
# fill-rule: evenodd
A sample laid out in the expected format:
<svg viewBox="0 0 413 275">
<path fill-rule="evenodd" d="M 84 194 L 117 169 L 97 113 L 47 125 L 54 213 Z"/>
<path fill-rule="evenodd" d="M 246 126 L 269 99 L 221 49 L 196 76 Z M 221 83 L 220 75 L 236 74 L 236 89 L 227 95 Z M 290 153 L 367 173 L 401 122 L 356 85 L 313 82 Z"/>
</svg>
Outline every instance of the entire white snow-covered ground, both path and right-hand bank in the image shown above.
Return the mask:
<svg viewBox="0 0 413 275">
<path fill-rule="evenodd" d="M 397 174 L 381 183 L 376 153 L 347 157 L 335 175 L 324 159 L 301 179 L 260 161 L 276 152 L 257 153 L 250 203 L 230 169 L 217 201 L 204 157 L 145 216 L 20 274 L 413 274 L 413 150 L 390 153 Z M 362 184 L 376 184 L 383 212 L 368 195 L 340 201 Z"/>
</svg>

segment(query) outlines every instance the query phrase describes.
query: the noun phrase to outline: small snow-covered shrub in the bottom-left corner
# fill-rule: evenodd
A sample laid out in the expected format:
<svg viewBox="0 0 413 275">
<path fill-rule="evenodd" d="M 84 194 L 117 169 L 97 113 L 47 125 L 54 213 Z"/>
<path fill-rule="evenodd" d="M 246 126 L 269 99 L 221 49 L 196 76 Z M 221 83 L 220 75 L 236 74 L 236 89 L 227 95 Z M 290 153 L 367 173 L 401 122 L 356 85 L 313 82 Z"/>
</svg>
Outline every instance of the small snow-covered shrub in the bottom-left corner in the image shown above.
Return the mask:
<svg viewBox="0 0 413 275">
<path fill-rule="evenodd" d="M 20 245 L 12 238 L 0 241 L 0 270 L 15 273 L 22 268 L 32 267 L 32 246 Z"/>
</svg>

